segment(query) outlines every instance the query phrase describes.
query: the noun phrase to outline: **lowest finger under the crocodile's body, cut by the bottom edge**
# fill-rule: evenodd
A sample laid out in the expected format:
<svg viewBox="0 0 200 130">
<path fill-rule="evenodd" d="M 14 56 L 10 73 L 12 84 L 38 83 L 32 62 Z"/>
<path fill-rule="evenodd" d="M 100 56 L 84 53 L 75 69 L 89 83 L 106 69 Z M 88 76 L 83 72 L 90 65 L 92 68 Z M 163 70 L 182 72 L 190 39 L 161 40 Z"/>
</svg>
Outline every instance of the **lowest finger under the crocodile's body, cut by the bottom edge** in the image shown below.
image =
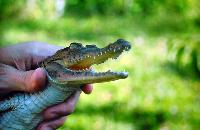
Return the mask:
<svg viewBox="0 0 200 130">
<path fill-rule="evenodd" d="M 43 122 L 37 127 L 37 130 L 55 130 L 64 124 L 66 118 L 67 117 L 61 117 L 56 120 Z"/>
</svg>

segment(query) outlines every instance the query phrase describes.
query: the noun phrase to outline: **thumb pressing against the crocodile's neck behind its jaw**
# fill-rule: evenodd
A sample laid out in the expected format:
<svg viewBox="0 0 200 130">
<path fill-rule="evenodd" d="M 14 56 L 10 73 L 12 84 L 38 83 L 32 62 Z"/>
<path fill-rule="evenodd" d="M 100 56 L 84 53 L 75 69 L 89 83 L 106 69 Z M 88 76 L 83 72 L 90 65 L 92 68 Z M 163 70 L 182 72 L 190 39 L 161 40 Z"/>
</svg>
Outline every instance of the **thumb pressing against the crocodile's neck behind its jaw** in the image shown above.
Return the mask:
<svg viewBox="0 0 200 130">
<path fill-rule="evenodd" d="M 20 71 L 14 67 L 0 64 L 0 88 L 9 91 L 37 91 L 46 83 L 45 71 L 41 68 Z"/>
</svg>

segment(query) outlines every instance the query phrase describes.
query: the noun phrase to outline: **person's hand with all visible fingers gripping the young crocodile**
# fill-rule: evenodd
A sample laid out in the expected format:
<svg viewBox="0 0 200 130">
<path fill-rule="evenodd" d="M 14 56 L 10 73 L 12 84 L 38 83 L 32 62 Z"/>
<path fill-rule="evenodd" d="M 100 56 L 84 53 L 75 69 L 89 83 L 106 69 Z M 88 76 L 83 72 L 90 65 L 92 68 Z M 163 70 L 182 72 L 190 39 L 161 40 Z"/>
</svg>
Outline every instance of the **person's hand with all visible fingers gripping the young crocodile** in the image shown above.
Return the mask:
<svg viewBox="0 0 200 130">
<path fill-rule="evenodd" d="M 26 42 L 0 48 L 0 100 L 17 91 L 36 92 L 46 86 L 46 73 L 37 68 L 40 61 L 53 55 L 62 47 L 41 43 Z M 82 87 L 86 94 L 92 92 L 92 85 Z M 74 111 L 81 92 L 76 92 L 65 102 L 47 108 L 37 129 L 54 130 L 61 126 L 66 117 Z"/>
</svg>

